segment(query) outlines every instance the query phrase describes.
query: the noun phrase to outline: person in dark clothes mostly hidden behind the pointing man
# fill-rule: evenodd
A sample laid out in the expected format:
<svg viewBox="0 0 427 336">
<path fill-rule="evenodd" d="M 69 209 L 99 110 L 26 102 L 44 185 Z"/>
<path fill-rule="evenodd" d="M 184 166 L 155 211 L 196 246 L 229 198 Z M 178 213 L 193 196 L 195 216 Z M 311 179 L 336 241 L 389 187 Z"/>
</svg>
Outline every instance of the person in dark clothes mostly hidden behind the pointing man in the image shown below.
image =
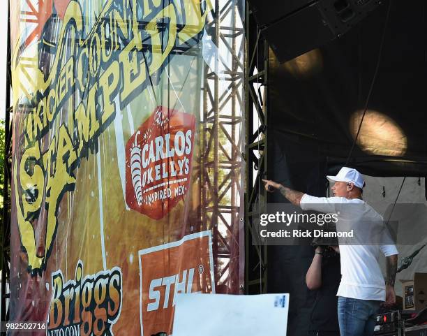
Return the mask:
<svg viewBox="0 0 427 336">
<path fill-rule="evenodd" d="M 310 314 L 308 336 L 340 336 L 338 326 L 338 286 L 340 285 L 340 255 L 338 246 L 317 246 L 308 268 L 306 284 L 316 291 Z"/>
</svg>

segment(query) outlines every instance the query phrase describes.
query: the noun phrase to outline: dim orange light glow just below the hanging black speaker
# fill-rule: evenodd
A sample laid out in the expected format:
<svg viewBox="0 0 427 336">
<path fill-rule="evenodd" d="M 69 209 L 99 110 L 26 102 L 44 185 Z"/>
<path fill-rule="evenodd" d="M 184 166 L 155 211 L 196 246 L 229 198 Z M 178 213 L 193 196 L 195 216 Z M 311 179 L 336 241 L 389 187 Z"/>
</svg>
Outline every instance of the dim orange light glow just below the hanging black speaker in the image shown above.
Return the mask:
<svg viewBox="0 0 427 336">
<path fill-rule="evenodd" d="M 294 77 L 310 77 L 320 73 L 323 68 L 323 57 L 319 49 L 311 50 L 283 64 L 283 68 Z"/>
</svg>

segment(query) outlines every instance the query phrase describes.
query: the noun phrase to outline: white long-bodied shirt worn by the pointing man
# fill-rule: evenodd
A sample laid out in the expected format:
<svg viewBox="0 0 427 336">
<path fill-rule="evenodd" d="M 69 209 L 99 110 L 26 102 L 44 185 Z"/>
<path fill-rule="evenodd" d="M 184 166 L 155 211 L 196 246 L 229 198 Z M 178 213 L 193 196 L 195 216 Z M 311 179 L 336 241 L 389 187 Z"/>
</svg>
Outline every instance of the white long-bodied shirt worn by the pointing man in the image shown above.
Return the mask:
<svg viewBox="0 0 427 336">
<path fill-rule="evenodd" d="M 356 205 L 356 206 L 352 206 Z M 358 198 L 314 197 L 307 194 L 301 198 L 302 210 L 336 213 L 340 227 L 358 226 L 360 223 L 382 223 L 384 219 L 370 205 Z M 360 225 L 359 225 L 360 226 Z M 398 254 L 394 244 L 340 244 L 341 282 L 338 296 L 361 300 L 385 301 L 385 283 L 378 258 Z"/>
</svg>

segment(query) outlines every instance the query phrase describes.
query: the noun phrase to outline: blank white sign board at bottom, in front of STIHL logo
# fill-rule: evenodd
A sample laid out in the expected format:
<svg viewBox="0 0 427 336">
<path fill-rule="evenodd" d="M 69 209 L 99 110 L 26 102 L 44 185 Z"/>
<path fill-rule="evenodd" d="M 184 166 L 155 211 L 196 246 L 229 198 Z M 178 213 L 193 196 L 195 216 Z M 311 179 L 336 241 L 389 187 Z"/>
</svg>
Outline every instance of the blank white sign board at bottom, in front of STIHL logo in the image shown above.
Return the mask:
<svg viewBox="0 0 427 336">
<path fill-rule="evenodd" d="M 178 294 L 173 336 L 286 335 L 289 294 Z"/>
</svg>

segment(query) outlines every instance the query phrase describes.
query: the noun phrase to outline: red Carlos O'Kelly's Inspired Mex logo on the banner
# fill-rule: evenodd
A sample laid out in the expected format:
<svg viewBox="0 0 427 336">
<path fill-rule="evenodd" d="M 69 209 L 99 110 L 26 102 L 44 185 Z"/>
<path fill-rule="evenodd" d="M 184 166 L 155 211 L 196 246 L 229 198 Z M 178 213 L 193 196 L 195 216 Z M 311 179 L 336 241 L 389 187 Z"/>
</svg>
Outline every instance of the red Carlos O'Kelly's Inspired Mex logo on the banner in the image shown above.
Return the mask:
<svg viewBox="0 0 427 336">
<path fill-rule="evenodd" d="M 162 219 L 188 193 L 195 116 L 159 106 L 126 145 L 126 203 Z"/>
</svg>

